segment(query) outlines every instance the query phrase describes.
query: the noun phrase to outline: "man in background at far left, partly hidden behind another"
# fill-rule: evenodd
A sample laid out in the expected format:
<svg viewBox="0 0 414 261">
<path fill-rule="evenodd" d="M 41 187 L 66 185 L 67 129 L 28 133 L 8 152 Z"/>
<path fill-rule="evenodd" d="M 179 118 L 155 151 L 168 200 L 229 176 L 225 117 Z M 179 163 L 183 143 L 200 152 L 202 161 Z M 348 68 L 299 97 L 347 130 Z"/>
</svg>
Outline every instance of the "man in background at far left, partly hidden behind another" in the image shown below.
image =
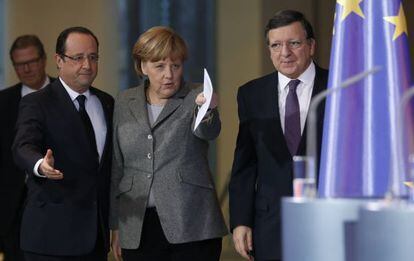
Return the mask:
<svg viewBox="0 0 414 261">
<path fill-rule="evenodd" d="M 35 35 L 22 35 L 10 48 L 10 59 L 20 82 L 0 91 L 0 245 L 5 260 L 23 260 L 19 228 L 26 183 L 24 172 L 14 164 L 11 146 L 20 99 L 48 85 L 46 53 Z"/>
</svg>

